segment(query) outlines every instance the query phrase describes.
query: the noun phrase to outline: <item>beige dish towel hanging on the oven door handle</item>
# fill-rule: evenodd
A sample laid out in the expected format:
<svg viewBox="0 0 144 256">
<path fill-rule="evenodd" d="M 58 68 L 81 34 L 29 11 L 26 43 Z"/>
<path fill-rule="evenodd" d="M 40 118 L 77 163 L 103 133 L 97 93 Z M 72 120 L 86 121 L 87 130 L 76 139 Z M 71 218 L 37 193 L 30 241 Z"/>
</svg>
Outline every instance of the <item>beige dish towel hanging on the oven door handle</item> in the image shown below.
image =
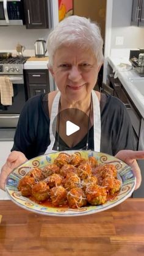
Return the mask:
<svg viewBox="0 0 144 256">
<path fill-rule="evenodd" d="M 8 76 L 0 76 L 1 104 L 12 105 L 13 85 Z"/>
</svg>

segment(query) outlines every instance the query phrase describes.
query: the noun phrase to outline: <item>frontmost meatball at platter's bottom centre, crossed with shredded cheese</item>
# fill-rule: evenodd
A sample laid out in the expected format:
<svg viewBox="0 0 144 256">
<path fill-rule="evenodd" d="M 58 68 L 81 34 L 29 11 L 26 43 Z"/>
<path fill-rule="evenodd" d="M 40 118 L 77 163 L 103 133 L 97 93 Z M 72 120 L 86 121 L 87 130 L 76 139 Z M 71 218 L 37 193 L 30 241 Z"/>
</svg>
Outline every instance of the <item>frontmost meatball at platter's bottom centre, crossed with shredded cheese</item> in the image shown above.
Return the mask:
<svg viewBox="0 0 144 256">
<path fill-rule="evenodd" d="M 81 188 L 72 188 L 67 194 L 67 199 L 70 208 L 80 208 L 87 205 L 87 199 Z"/>
</svg>

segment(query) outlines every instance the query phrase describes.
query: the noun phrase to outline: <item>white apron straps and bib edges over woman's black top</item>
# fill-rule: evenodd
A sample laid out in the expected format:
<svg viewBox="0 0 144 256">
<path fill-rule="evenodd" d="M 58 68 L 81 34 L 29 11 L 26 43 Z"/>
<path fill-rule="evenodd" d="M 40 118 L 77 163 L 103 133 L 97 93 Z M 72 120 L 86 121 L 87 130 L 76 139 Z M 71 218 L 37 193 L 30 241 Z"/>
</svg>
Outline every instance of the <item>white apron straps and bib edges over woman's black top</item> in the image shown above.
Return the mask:
<svg viewBox="0 0 144 256">
<path fill-rule="evenodd" d="M 94 139 L 94 151 L 100 152 L 100 143 L 101 143 L 101 112 L 99 107 L 99 100 L 94 90 L 92 90 L 92 99 L 93 99 L 93 139 Z M 57 92 L 57 95 L 54 98 L 51 108 L 51 118 L 49 124 L 49 137 L 51 143 L 48 145 L 48 148 L 45 154 L 56 152 L 56 150 L 52 150 L 54 147 L 55 137 L 56 134 L 56 126 L 53 127 L 55 129 L 54 134 L 52 133 L 52 123 L 58 114 L 59 110 L 59 100 L 60 100 L 60 92 Z M 55 122 L 57 123 L 57 122 Z"/>
</svg>

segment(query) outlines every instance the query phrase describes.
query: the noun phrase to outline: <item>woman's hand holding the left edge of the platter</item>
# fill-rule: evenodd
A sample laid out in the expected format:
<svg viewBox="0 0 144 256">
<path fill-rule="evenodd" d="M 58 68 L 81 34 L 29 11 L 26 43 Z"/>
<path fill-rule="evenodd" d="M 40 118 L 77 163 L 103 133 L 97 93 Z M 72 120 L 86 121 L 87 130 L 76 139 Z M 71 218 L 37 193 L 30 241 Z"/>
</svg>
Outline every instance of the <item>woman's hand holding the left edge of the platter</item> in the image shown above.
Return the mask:
<svg viewBox="0 0 144 256">
<path fill-rule="evenodd" d="M 23 164 L 27 160 L 26 156 L 19 151 L 13 151 L 7 158 L 6 163 L 2 166 L 0 174 L 0 188 L 5 190 L 5 180 L 12 170 Z"/>
</svg>

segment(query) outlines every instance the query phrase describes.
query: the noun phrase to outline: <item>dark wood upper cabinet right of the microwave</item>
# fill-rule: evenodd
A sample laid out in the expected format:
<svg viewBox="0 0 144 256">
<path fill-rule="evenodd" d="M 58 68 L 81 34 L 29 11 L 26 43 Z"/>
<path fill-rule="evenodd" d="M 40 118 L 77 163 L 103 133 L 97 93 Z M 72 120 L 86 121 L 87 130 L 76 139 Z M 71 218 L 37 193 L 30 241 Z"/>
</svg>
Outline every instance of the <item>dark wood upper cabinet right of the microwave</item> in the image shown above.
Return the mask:
<svg viewBox="0 0 144 256">
<path fill-rule="evenodd" d="M 24 0 L 27 29 L 51 28 L 50 0 Z"/>
</svg>

